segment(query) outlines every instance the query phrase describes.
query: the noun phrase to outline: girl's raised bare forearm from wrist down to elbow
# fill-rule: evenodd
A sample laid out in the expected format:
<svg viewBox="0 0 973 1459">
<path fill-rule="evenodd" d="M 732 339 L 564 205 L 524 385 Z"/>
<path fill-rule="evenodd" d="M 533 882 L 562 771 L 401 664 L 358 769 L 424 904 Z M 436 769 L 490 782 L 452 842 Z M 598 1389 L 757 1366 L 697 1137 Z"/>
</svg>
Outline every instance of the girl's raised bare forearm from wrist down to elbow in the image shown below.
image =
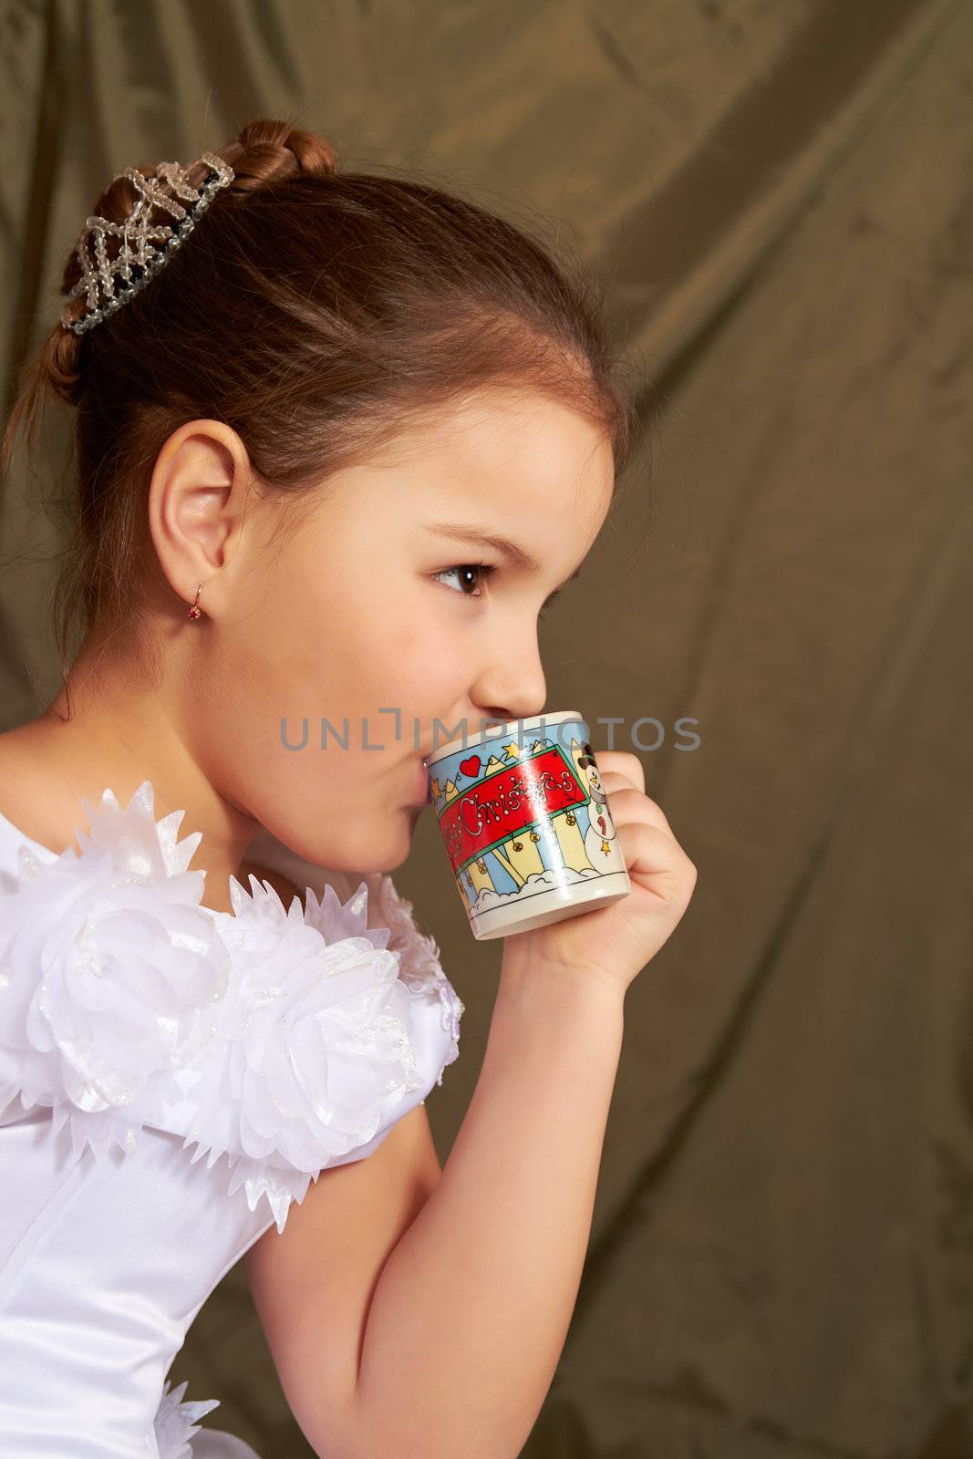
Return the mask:
<svg viewBox="0 0 973 1459">
<path fill-rule="evenodd" d="M 376 1284 L 352 1434 L 365 1459 L 515 1459 L 578 1297 L 623 994 L 505 954 L 442 1179 Z"/>
</svg>

